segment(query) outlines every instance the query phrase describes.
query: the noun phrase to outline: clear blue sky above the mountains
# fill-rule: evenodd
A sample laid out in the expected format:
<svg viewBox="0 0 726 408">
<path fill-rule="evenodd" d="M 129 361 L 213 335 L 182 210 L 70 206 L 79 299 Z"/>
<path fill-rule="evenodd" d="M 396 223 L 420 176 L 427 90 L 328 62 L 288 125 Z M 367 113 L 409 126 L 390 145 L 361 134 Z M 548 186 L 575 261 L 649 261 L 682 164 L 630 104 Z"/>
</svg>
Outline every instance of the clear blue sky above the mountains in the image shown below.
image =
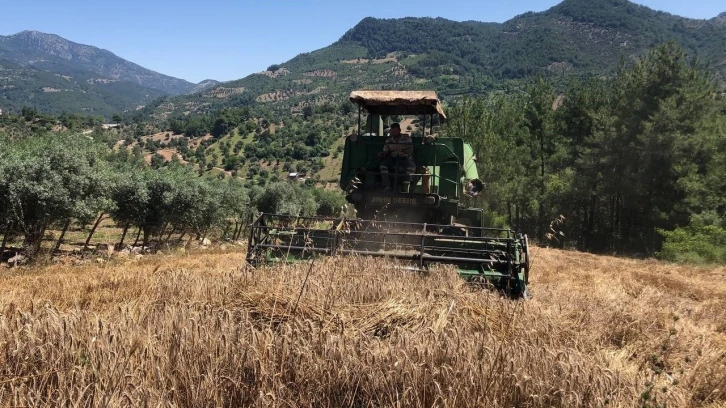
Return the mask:
<svg viewBox="0 0 726 408">
<path fill-rule="evenodd" d="M 503 22 L 558 0 L 0 0 L 0 35 L 58 34 L 163 74 L 233 80 L 336 41 L 364 17 Z M 723 0 L 637 0 L 691 18 L 726 11 Z"/>
</svg>

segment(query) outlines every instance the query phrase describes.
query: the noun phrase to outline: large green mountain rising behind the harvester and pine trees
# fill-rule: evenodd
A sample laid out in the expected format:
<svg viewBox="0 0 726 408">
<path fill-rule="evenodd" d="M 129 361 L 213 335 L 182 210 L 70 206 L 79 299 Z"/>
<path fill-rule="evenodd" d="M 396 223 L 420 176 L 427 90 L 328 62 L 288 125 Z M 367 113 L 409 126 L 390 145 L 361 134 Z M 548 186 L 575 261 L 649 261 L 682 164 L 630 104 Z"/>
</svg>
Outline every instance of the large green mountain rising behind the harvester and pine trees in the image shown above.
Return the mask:
<svg viewBox="0 0 726 408">
<path fill-rule="evenodd" d="M 272 65 L 195 95 L 169 98 L 152 114 L 209 112 L 265 104 L 299 112 L 309 103 L 343 101 L 355 88 L 459 94 L 508 90 L 540 74 L 608 75 L 621 61 L 675 40 L 726 80 L 726 13 L 694 20 L 627 0 L 565 0 L 504 23 L 443 18 L 365 18 L 328 47 Z"/>
</svg>

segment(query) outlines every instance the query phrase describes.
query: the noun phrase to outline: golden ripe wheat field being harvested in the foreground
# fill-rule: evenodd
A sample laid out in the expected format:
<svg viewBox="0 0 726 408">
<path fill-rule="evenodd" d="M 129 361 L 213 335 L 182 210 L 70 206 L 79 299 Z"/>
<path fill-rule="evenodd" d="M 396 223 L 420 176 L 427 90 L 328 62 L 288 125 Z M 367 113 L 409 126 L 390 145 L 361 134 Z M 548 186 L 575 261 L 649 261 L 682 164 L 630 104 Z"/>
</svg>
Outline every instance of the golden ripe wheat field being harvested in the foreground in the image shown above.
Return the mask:
<svg viewBox="0 0 726 408">
<path fill-rule="evenodd" d="M 0 406 L 726 407 L 726 268 L 544 248 L 528 301 L 382 259 L 0 269 Z"/>
</svg>

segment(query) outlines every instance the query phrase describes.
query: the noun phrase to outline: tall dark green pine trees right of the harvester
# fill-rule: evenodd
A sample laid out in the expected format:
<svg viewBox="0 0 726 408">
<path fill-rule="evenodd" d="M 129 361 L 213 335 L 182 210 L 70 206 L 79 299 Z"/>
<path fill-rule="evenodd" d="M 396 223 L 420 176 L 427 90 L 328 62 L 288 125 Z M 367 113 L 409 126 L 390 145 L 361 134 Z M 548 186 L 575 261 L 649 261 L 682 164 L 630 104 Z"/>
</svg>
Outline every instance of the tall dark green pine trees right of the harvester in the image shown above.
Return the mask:
<svg viewBox="0 0 726 408">
<path fill-rule="evenodd" d="M 475 147 L 492 223 L 550 245 L 726 261 L 726 100 L 666 43 L 612 79 L 466 99 L 445 132 Z"/>
</svg>

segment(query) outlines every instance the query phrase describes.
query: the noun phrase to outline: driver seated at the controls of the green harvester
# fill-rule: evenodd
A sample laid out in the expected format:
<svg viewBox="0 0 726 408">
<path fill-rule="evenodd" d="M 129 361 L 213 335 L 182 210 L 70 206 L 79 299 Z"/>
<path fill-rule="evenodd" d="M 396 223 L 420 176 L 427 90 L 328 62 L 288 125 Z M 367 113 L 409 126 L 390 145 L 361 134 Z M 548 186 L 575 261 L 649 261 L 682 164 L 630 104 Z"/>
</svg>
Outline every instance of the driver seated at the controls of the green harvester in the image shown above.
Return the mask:
<svg viewBox="0 0 726 408">
<path fill-rule="evenodd" d="M 391 125 L 391 135 L 383 145 L 383 151 L 378 152 L 381 160 L 380 172 L 383 191 L 391 191 L 391 180 L 388 175 L 389 169 L 393 168 L 398 173 L 396 179 L 400 183 L 401 192 L 407 193 L 411 176 L 416 172 L 416 164 L 413 162 L 413 141 L 408 134 L 401 134 L 401 125 Z"/>
</svg>

